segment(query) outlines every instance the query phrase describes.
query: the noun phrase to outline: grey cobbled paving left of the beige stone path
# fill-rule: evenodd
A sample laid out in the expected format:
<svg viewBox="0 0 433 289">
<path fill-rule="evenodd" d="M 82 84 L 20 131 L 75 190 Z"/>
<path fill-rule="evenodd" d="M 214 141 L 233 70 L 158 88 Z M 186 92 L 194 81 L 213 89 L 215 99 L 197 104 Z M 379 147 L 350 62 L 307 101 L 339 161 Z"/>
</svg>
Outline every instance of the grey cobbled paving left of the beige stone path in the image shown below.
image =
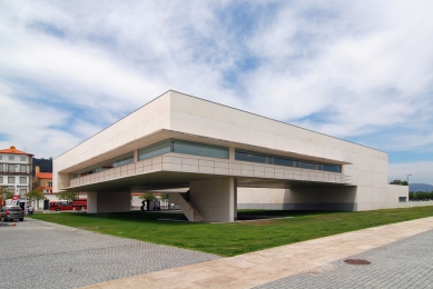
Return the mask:
<svg viewBox="0 0 433 289">
<path fill-rule="evenodd" d="M 73 288 L 220 257 L 28 219 L 0 228 L 1 288 Z"/>
</svg>

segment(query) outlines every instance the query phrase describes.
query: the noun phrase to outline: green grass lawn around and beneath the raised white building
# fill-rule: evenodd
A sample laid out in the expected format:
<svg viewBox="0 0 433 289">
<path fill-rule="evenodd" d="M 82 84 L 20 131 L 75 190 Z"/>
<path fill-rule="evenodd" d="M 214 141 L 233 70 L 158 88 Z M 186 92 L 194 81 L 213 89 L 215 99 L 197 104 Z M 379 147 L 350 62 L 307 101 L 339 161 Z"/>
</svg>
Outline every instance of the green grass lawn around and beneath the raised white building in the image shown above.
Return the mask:
<svg viewBox="0 0 433 289">
<path fill-rule="evenodd" d="M 243 216 L 293 217 L 236 223 L 158 221 L 183 215 L 131 211 L 122 213 L 35 213 L 31 218 L 95 232 L 175 246 L 219 256 L 236 256 L 368 227 L 433 216 L 433 207 L 362 212 L 239 210 Z"/>
</svg>

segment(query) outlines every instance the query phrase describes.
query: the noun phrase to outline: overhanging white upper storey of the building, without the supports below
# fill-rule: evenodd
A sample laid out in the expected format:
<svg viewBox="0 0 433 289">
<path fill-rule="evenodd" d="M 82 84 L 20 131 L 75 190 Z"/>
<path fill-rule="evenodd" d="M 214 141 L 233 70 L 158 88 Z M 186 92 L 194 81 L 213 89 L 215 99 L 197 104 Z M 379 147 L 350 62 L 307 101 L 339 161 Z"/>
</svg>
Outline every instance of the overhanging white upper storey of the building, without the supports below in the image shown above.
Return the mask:
<svg viewBox="0 0 433 289">
<path fill-rule="evenodd" d="M 281 121 L 168 91 L 53 161 L 55 192 L 339 183 L 385 188 L 387 155 Z"/>
</svg>

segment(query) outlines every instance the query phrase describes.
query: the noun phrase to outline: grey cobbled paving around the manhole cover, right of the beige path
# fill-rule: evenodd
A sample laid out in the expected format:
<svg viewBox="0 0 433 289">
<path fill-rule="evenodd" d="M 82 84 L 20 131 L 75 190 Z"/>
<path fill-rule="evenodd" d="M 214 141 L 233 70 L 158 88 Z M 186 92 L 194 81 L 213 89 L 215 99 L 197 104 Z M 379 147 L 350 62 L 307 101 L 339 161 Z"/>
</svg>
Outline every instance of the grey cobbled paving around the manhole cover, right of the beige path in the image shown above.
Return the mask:
<svg viewBox="0 0 433 289">
<path fill-rule="evenodd" d="M 318 273 L 297 273 L 255 287 L 274 288 L 433 288 L 433 230 L 344 259 L 365 259 L 354 266 L 344 259 Z"/>
</svg>

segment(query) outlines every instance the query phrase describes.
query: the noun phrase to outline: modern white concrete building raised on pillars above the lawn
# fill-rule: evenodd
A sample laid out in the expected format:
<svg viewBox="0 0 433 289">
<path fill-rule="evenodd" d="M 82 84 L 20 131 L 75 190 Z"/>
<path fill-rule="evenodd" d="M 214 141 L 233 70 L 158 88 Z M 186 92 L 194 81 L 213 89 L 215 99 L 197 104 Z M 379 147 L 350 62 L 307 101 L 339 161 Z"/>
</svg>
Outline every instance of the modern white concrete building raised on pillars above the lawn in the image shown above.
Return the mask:
<svg viewBox="0 0 433 289">
<path fill-rule="evenodd" d="M 387 185 L 386 152 L 171 90 L 53 161 L 55 192 L 86 191 L 88 212 L 166 189 L 206 221 L 237 208 L 395 208 L 409 195 Z"/>
</svg>

